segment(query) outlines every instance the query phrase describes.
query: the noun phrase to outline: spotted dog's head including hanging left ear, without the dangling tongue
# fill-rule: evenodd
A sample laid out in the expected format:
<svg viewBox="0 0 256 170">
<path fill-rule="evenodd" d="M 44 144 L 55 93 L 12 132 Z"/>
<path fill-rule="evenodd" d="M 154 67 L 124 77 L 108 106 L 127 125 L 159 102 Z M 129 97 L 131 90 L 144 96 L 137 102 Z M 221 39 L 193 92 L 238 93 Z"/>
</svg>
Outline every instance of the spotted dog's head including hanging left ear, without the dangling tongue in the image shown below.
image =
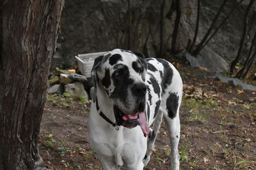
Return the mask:
<svg viewBox="0 0 256 170">
<path fill-rule="evenodd" d="M 145 112 L 147 62 L 141 53 L 115 49 L 97 57 L 92 69 L 97 85 L 113 103 L 116 122 L 125 127 L 139 124 L 140 113 Z M 141 116 L 142 117 L 142 116 Z"/>
</svg>

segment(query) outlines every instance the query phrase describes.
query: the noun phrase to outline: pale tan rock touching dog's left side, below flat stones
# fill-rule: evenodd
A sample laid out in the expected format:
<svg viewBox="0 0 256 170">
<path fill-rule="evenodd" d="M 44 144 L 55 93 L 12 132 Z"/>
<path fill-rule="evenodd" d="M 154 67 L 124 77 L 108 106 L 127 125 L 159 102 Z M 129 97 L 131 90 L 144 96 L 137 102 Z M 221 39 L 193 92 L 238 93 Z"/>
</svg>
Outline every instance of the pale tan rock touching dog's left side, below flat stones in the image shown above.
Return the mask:
<svg viewBox="0 0 256 170">
<path fill-rule="evenodd" d="M 84 101 L 88 103 L 89 97 L 87 92 L 84 90 L 84 85 L 81 82 L 75 82 L 65 85 L 65 93 L 69 94 L 72 97 L 81 96 L 84 97 Z"/>
</svg>

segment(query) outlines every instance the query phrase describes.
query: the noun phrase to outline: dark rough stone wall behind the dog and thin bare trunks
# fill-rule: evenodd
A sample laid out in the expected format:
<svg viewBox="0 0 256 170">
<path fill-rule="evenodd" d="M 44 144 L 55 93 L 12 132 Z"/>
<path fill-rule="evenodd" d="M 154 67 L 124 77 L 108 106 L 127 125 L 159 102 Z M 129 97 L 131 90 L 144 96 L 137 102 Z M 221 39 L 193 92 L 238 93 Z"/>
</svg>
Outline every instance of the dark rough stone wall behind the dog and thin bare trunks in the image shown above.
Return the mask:
<svg viewBox="0 0 256 170">
<path fill-rule="evenodd" d="M 207 45 L 225 59 L 236 55 L 243 28 L 246 8 L 241 4 L 220 32 Z M 79 53 L 102 52 L 124 48 L 157 57 L 163 32 L 163 50 L 170 49 L 175 13 L 168 17 L 172 0 L 65 0 L 61 16 L 61 35 L 58 52 L 62 62 L 74 62 Z M 228 1 L 225 15 L 236 1 Z M 198 40 L 204 36 L 220 6 L 219 0 L 202 1 Z M 196 21 L 196 1 L 181 1 L 182 18 L 177 47 L 185 48 L 188 38 L 193 39 Z M 161 30 L 161 9 L 163 29 Z M 221 15 L 223 18 L 225 15 Z M 255 10 L 252 17 L 255 17 Z M 251 21 L 253 18 L 250 19 Z M 253 23 L 253 22 L 252 22 Z M 252 25 L 250 25 L 252 29 Z M 250 39 L 250 36 L 248 37 Z M 53 62 L 54 63 L 54 62 Z"/>
</svg>

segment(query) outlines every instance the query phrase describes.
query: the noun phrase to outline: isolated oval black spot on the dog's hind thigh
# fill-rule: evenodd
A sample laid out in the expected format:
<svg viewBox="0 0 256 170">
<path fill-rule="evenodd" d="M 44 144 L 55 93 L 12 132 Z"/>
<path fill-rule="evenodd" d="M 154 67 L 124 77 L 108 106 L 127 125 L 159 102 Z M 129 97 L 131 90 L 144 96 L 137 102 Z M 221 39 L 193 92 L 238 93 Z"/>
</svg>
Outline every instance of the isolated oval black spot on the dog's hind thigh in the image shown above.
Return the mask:
<svg viewBox="0 0 256 170">
<path fill-rule="evenodd" d="M 166 100 L 166 108 L 168 111 L 168 117 L 175 118 L 177 115 L 177 110 L 179 106 L 179 96 L 177 94 L 170 94 Z"/>
</svg>

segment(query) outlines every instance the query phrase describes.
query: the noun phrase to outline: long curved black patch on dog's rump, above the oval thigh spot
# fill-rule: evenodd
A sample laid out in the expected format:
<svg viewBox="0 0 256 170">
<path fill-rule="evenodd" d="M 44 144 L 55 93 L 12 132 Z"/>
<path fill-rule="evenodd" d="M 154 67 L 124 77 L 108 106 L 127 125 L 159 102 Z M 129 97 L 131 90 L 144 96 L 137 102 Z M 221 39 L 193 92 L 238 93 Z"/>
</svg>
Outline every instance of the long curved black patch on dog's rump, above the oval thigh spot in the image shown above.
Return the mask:
<svg viewBox="0 0 256 170">
<path fill-rule="evenodd" d="M 157 59 L 158 62 L 163 64 L 164 66 L 164 73 L 163 73 L 163 78 L 162 78 L 162 87 L 163 87 L 163 92 L 165 92 L 165 89 L 172 83 L 172 77 L 173 77 L 173 70 L 170 66 L 170 64 L 163 59 Z"/>
</svg>

